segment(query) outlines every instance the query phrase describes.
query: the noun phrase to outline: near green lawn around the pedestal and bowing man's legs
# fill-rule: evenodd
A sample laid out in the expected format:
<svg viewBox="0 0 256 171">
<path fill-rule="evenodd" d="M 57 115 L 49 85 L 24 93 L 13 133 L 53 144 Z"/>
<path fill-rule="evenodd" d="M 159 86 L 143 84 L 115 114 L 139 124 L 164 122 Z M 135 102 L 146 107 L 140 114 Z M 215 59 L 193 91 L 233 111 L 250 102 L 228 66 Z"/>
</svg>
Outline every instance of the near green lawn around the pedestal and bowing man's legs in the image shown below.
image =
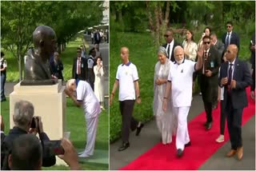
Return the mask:
<svg viewBox="0 0 256 171">
<path fill-rule="evenodd" d="M 5 123 L 5 133 L 9 133 L 9 97 L 7 101 L 1 103 L 1 114 Z M 67 130 L 70 133 L 70 140 L 73 142 L 74 147 L 76 149 L 85 148 L 86 143 L 86 125 L 85 125 L 85 117 L 81 108 L 74 106 L 73 101 L 70 98 L 66 101 L 66 124 Z M 95 143 L 95 149 L 104 149 L 109 150 L 109 114 L 108 110 L 103 110 L 99 117 L 98 121 L 98 130 L 97 137 Z M 98 170 L 106 170 L 108 169 L 108 165 L 99 165 L 94 163 L 81 163 L 82 169 L 98 169 Z M 66 166 L 53 166 L 50 168 L 43 169 L 69 169 Z"/>
</svg>

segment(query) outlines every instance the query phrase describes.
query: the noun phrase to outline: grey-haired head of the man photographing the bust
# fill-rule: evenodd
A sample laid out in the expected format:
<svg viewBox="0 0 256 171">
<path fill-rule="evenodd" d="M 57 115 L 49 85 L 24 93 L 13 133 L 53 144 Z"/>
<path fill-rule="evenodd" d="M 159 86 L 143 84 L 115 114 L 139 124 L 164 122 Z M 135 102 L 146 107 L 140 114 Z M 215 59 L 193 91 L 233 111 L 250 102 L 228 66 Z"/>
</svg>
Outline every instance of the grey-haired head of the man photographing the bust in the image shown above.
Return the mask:
<svg viewBox="0 0 256 171">
<path fill-rule="evenodd" d="M 34 116 L 34 105 L 30 101 L 18 101 L 14 105 L 14 124 L 26 129 Z"/>
</svg>

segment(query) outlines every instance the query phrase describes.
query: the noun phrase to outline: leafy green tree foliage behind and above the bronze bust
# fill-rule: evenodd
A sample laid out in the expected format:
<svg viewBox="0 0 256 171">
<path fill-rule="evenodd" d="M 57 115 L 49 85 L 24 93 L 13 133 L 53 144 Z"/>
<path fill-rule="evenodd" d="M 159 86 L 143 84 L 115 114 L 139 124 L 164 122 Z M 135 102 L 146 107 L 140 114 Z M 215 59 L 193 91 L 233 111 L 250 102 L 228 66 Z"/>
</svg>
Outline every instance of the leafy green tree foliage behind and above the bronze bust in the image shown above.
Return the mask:
<svg viewBox="0 0 256 171">
<path fill-rule="evenodd" d="M 1 2 L 2 47 L 10 50 L 18 59 L 20 80 L 22 58 L 32 44 L 32 34 L 37 26 L 52 27 L 57 35 L 58 45 L 65 44 L 78 31 L 100 24 L 104 10 L 102 4 L 101 1 Z"/>
</svg>

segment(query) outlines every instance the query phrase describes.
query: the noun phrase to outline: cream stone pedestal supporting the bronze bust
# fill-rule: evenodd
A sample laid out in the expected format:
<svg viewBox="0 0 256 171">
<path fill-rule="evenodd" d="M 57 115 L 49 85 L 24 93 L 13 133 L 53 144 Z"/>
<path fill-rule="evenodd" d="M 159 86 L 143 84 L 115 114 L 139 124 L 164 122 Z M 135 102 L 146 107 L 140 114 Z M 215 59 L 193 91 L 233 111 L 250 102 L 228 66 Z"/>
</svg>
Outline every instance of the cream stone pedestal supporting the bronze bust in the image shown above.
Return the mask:
<svg viewBox="0 0 256 171">
<path fill-rule="evenodd" d="M 44 132 L 50 140 L 63 137 L 66 125 L 66 94 L 61 80 L 54 85 L 14 85 L 10 93 L 10 128 L 13 128 L 14 104 L 26 100 L 34 105 L 34 116 L 42 117 Z"/>
</svg>

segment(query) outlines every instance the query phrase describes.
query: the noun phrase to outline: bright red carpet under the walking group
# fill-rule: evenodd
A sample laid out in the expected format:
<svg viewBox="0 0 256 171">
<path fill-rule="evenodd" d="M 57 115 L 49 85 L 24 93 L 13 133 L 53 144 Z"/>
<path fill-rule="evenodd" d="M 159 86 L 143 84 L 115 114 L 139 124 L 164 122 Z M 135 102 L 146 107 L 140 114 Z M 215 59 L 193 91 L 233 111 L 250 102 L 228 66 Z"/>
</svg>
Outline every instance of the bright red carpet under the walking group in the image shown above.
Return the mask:
<svg viewBox="0 0 256 171">
<path fill-rule="evenodd" d="M 250 99 L 250 89 L 247 89 L 248 106 L 243 110 L 242 125 L 255 114 L 254 101 Z M 220 106 L 220 105 L 218 105 Z M 182 158 L 176 157 L 175 139 L 170 145 L 158 143 L 146 153 L 122 167 L 122 170 L 130 169 L 199 169 L 199 167 L 213 155 L 224 143 L 217 143 L 215 139 L 219 135 L 220 107 L 213 111 L 214 125 L 210 131 L 206 131 L 203 123 L 206 121 L 206 113 L 200 113 L 189 122 L 188 129 L 192 145 L 187 147 Z M 227 125 L 225 128 L 225 142 L 229 140 Z M 226 149 L 228 151 L 229 149 Z"/>
</svg>

